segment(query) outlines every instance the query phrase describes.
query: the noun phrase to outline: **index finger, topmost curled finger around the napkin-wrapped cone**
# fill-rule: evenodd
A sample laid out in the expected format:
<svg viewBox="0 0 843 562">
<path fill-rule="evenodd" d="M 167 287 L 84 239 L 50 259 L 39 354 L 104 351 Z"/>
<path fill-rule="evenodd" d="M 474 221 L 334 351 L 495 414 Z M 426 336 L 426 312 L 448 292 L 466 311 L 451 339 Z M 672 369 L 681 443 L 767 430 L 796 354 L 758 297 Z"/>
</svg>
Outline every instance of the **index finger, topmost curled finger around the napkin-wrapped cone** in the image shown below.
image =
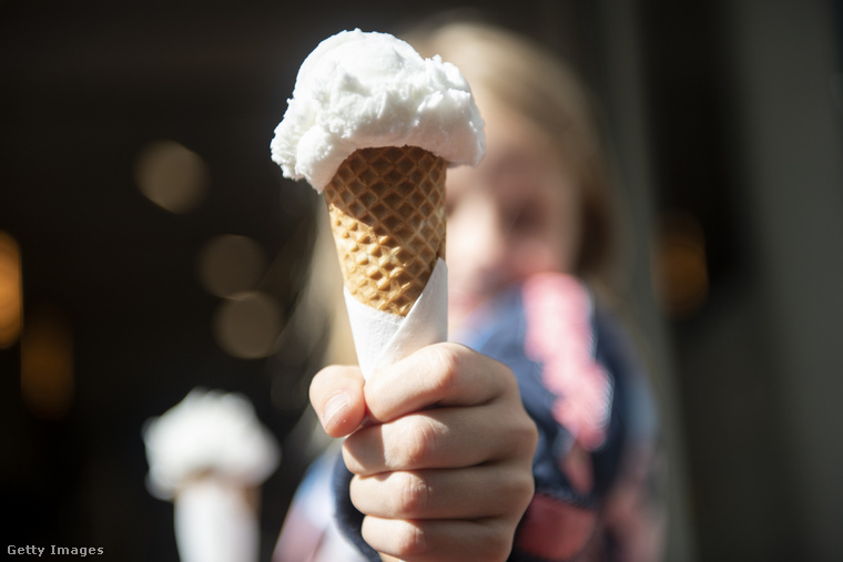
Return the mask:
<svg viewBox="0 0 843 562">
<path fill-rule="evenodd" d="M 458 344 L 437 344 L 375 374 L 365 394 L 372 417 L 388 421 L 435 405 L 484 403 L 512 386 L 502 364 Z"/>
</svg>

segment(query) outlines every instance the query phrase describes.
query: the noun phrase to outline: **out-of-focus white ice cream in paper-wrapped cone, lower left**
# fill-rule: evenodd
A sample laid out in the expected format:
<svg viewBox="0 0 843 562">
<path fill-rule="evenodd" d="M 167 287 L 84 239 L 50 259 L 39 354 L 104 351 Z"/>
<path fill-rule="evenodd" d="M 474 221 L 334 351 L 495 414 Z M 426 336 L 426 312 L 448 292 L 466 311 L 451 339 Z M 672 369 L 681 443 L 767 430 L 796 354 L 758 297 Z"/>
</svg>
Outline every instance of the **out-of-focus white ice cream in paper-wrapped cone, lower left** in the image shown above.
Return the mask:
<svg viewBox="0 0 843 562">
<path fill-rule="evenodd" d="M 183 562 L 251 562 L 260 550 L 257 489 L 281 451 L 243 396 L 192 390 L 143 428 L 150 492 L 175 503 Z"/>
</svg>

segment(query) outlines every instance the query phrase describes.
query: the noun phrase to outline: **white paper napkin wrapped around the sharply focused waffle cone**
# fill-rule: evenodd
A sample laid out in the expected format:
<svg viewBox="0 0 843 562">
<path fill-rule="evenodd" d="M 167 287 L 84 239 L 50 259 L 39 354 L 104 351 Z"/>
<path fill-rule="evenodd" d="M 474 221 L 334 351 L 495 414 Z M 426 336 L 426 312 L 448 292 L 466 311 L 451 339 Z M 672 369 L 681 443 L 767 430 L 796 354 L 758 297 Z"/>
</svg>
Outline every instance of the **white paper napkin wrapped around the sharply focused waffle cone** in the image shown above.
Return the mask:
<svg viewBox="0 0 843 562">
<path fill-rule="evenodd" d="M 376 310 L 346 289 L 345 304 L 363 377 L 398 361 L 413 351 L 448 338 L 448 268 L 434 267 L 427 286 L 406 317 Z"/>
</svg>

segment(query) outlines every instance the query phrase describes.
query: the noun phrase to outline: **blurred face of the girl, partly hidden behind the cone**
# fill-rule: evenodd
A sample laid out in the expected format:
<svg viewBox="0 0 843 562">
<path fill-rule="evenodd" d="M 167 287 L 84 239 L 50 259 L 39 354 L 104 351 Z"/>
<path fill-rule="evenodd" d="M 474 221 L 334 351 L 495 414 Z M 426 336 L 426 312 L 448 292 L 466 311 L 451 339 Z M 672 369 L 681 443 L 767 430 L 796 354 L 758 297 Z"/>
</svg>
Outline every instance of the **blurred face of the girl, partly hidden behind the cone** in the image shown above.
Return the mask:
<svg viewBox="0 0 843 562">
<path fill-rule="evenodd" d="M 448 171 L 447 260 L 451 329 L 507 285 L 571 272 L 580 236 L 571 170 L 549 139 L 501 104 L 481 105 L 486 156 Z"/>
</svg>

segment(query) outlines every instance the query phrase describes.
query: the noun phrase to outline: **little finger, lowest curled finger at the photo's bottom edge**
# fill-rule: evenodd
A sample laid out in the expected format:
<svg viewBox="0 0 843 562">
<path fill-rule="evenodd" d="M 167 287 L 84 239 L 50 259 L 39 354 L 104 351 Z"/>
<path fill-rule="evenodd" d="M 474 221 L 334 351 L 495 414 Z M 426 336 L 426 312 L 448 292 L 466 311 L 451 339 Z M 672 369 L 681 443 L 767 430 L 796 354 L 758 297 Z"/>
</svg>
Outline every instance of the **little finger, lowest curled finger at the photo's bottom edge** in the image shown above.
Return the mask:
<svg viewBox="0 0 843 562">
<path fill-rule="evenodd" d="M 366 517 L 363 538 L 376 551 L 413 562 L 504 562 L 512 533 L 500 519 L 407 521 Z"/>
</svg>

